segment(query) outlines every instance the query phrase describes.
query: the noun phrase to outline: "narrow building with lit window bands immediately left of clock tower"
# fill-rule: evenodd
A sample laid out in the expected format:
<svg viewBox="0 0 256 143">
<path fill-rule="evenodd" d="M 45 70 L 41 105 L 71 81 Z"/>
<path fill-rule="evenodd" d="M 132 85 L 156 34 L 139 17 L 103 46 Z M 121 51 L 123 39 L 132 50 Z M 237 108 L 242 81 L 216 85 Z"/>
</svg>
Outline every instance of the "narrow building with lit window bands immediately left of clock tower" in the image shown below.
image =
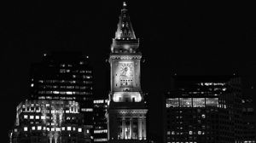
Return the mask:
<svg viewBox="0 0 256 143">
<path fill-rule="evenodd" d="M 107 109 L 108 99 L 97 98 L 93 100 L 94 105 L 94 142 L 107 143 L 108 142 L 108 123 L 107 123 Z"/>
</svg>

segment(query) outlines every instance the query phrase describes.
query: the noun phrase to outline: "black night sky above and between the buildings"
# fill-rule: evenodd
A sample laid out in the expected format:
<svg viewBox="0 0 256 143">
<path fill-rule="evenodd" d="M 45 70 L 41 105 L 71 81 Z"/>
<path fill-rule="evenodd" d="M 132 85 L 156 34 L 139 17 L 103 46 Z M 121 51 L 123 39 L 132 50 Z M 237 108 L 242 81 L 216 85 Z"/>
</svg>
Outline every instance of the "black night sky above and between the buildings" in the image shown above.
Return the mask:
<svg viewBox="0 0 256 143">
<path fill-rule="evenodd" d="M 159 136 L 160 92 L 177 75 L 240 75 L 256 100 L 256 9 L 247 1 L 126 1 L 143 52 L 151 135 Z M 82 51 L 94 67 L 96 96 L 107 96 L 106 60 L 122 1 L 9 1 L 1 3 L 1 111 L 6 134 L 15 108 L 29 97 L 29 68 L 44 53 Z M 157 110 L 154 110 L 157 109 Z M 156 117 L 158 116 L 158 117 Z M 3 132 L 3 133 L 4 133 Z"/>
</svg>

